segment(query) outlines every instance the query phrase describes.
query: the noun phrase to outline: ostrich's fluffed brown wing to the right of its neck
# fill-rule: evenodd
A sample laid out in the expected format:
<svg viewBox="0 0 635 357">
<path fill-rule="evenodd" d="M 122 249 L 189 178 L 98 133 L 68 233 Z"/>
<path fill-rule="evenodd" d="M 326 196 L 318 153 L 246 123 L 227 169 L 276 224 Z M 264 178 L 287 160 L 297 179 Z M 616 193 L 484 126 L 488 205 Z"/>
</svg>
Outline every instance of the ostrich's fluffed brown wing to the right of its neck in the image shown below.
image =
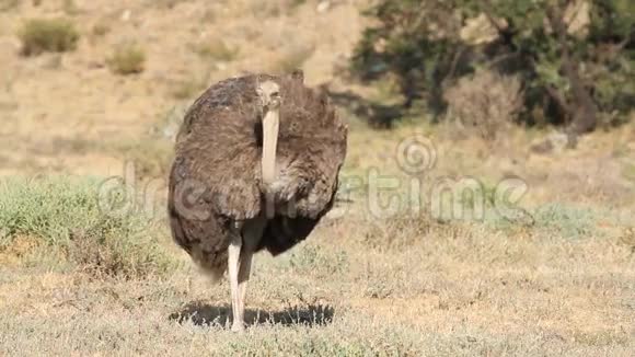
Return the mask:
<svg viewBox="0 0 635 357">
<path fill-rule="evenodd" d="M 347 128 L 325 95 L 282 82 L 276 204 L 261 249 L 279 254 L 305 239 L 333 207 L 346 156 Z"/>
</svg>

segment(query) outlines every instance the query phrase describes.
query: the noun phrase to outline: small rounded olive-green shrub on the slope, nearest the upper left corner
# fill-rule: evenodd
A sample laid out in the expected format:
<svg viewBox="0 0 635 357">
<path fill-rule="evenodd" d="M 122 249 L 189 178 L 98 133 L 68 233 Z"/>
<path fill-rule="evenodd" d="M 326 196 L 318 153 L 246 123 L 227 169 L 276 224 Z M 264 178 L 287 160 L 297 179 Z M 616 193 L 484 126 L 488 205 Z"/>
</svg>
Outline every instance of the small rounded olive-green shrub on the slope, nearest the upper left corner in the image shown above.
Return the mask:
<svg viewBox="0 0 635 357">
<path fill-rule="evenodd" d="M 64 19 L 28 20 L 22 26 L 19 36 L 24 56 L 73 50 L 80 38 L 74 25 Z"/>
</svg>

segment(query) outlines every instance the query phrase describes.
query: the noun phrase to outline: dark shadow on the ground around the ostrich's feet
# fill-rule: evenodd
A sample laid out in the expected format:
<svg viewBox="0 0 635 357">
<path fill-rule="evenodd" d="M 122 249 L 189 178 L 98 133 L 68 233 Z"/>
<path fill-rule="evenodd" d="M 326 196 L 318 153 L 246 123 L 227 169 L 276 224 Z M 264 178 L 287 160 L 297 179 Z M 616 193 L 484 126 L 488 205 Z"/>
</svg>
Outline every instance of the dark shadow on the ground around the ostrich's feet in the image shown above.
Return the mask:
<svg viewBox="0 0 635 357">
<path fill-rule="evenodd" d="M 331 306 L 309 304 L 291 307 L 280 311 L 245 309 L 245 324 L 281 324 L 281 325 L 327 325 L 333 322 L 335 310 Z M 186 304 L 169 316 L 178 323 L 192 321 L 195 325 L 229 326 L 231 306 L 217 307 L 201 301 Z"/>
</svg>

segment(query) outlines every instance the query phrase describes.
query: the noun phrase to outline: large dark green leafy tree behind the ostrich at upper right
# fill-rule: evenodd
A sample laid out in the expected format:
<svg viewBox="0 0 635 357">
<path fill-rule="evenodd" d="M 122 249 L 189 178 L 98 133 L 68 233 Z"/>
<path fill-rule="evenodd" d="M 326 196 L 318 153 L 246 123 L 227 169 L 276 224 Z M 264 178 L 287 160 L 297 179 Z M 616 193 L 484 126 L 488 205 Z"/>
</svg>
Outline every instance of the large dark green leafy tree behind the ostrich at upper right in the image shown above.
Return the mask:
<svg viewBox="0 0 635 357">
<path fill-rule="evenodd" d="M 518 77 L 519 120 L 574 142 L 635 106 L 635 1 L 381 0 L 367 14 L 351 69 L 392 79 L 411 111 L 443 113 L 446 89 L 480 70 Z"/>
</svg>

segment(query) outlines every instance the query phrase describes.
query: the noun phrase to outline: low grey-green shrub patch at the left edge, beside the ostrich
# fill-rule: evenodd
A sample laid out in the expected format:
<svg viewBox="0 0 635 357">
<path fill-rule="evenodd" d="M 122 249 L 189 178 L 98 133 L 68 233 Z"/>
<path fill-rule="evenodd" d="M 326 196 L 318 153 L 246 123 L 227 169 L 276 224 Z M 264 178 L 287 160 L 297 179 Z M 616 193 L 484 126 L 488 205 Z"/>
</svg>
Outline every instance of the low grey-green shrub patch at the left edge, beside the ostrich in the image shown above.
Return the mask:
<svg viewBox="0 0 635 357">
<path fill-rule="evenodd" d="M 100 185 L 100 180 L 86 177 L 0 181 L 0 252 L 30 238 L 43 249 L 39 254 L 66 256 L 62 263 L 95 276 L 135 278 L 166 272 L 172 263 L 158 242 L 157 223 L 138 211 L 102 211 Z M 108 198 L 120 203 L 123 197 L 117 192 Z"/>
</svg>

